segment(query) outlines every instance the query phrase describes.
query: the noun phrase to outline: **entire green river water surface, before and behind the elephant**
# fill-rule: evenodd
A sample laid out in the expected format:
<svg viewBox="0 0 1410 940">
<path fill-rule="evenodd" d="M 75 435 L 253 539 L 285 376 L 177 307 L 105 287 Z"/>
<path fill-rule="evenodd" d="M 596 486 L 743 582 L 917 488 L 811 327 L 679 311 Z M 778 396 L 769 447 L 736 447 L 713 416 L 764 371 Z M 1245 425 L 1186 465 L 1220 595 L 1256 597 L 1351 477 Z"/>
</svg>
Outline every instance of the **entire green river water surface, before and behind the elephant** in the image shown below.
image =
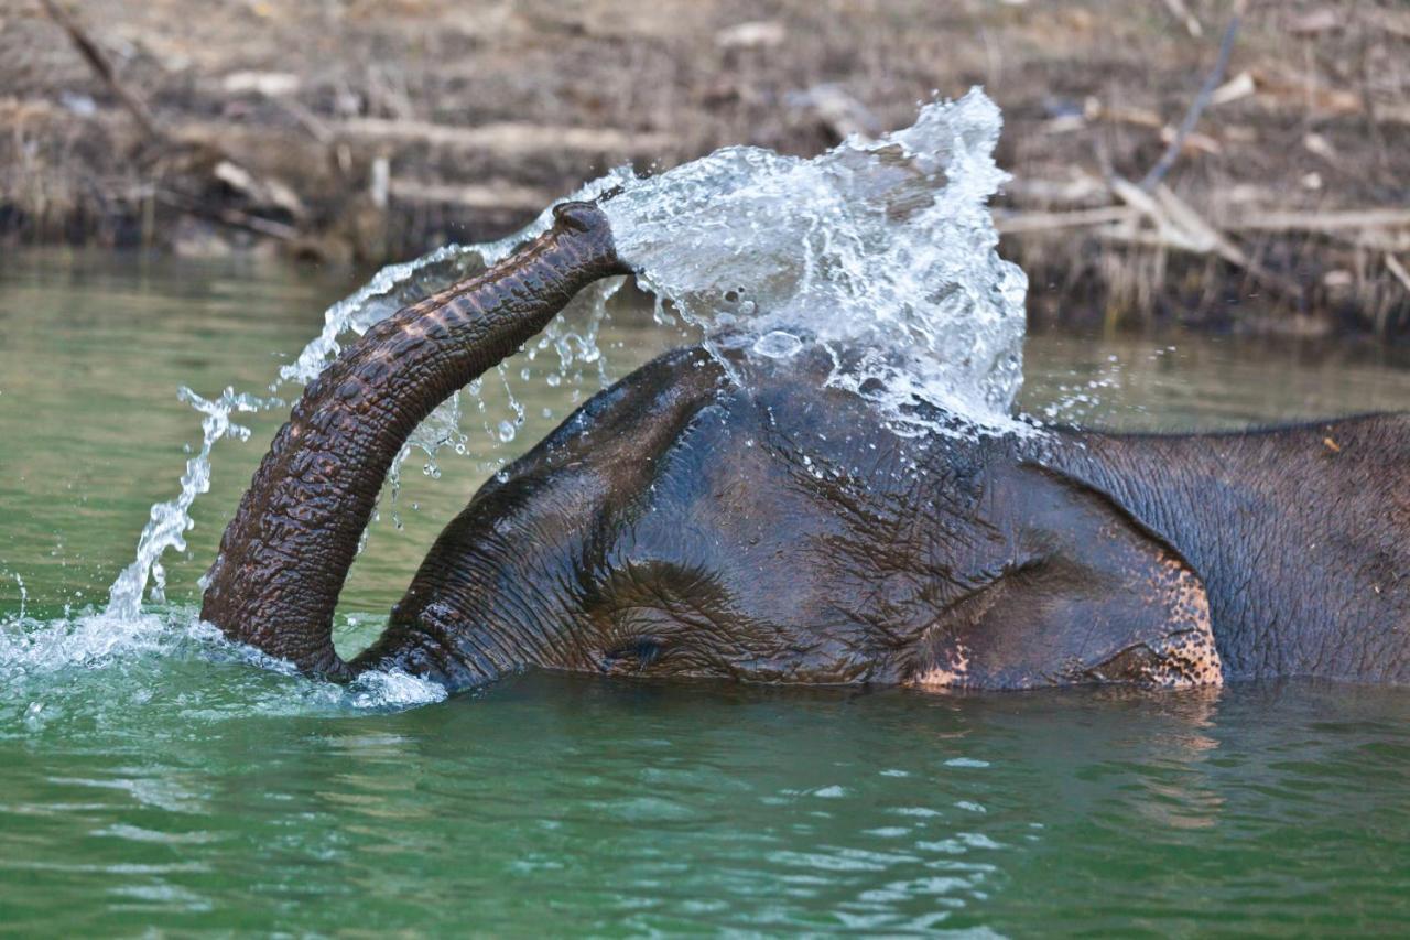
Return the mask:
<svg viewBox="0 0 1410 940">
<path fill-rule="evenodd" d="M 0 933 L 1410 930 L 1407 689 L 525 675 L 393 707 L 252 666 L 192 622 L 276 414 L 217 445 L 168 601 L 92 617 L 200 440 L 176 388 L 262 391 L 352 287 L 241 261 L 0 260 Z M 680 342 L 632 309 L 603 337 L 616 375 Z M 595 388 L 519 382 L 515 442 L 475 432 L 440 478 L 409 464 L 354 567 L 340 646 L 375 632 L 495 462 Z M 1410 363 L 1036 337 L 1022 401 L 1111 426 L 1239 426 L 1410 406 Z"/>
</svg>

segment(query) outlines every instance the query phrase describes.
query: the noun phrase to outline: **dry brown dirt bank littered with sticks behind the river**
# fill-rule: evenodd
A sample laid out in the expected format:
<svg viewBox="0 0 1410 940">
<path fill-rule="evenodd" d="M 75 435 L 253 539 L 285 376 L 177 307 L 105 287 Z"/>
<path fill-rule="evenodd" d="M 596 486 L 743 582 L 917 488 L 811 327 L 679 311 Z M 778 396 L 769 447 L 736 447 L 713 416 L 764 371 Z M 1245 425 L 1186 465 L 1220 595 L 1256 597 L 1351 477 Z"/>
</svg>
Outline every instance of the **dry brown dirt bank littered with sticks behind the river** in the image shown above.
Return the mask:
<svg viewBox="0 0 1410 940">
<path fill-rule="evenodd" d="M 11 0 L 0 239 L 378 261 L 984 85 L 1035 319 L 1410 333 L 1410 8 L 1241 6 Z"/>
</svg>

